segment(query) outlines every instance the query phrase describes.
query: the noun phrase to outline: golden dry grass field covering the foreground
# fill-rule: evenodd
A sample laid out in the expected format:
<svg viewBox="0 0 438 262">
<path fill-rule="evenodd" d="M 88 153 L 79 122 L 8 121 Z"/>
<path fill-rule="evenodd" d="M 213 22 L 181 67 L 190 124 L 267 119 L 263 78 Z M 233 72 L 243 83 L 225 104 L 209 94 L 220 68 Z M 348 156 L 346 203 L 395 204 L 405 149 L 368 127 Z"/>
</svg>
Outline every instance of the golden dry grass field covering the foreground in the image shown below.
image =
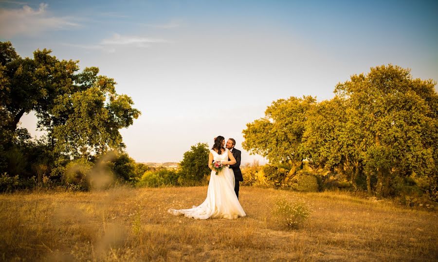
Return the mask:
<svg viewBox="0 0 438 262">
<path fill-rule="evenodd" d="M 247 213 L 193 220 L 206 187 L 0 195 L 2 261 L 437 261 L 438 213 L 347 193 L 242 187 Z M 305 200 L 299 229 L 278 230 L 278 195 Z"/>
</svg>

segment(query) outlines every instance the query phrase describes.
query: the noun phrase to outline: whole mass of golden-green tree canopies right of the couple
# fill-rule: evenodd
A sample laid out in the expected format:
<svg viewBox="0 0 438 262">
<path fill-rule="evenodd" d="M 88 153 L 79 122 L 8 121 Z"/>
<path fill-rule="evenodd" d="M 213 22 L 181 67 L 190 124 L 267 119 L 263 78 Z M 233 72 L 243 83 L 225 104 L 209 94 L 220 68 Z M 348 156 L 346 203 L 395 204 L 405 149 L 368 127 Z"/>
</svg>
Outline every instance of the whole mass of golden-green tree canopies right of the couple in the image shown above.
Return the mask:
<svg viewBox="0 0 438 262">
<path fill-rule="evenodd" d="M 366 177 L 366 189 L 379 196 L 400 180 L 436 187 L 435 85 L 400 66 L 377 66 L 338 83 L 330 100 L 274 101 L 265 118 L 247 124 L 242 145 L 271 163 L 308 159 L 344 174 L 355 187 Z"/>
</svg>

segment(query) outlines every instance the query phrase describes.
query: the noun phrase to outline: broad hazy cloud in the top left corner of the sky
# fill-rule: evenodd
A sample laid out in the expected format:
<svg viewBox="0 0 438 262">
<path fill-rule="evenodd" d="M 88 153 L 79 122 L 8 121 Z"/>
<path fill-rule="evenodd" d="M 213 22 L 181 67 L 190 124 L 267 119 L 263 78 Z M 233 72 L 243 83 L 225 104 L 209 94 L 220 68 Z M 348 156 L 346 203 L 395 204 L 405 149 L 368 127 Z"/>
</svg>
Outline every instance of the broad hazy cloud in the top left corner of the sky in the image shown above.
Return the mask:
<svg viewBox="0 0 438 262">
<path fill-rule="evenodd" d="M 15 2 L 18 4 L 18 2 Z M 40 3 L 38 9 L 28 5 L 16 9 L 0 9 L 0 35 L 11 38 L 15 35 L 34 35 L 42 31 L 63 30 L 80 26 L 72 17 L 53 16 L 47 3 Z"/>
</svg>

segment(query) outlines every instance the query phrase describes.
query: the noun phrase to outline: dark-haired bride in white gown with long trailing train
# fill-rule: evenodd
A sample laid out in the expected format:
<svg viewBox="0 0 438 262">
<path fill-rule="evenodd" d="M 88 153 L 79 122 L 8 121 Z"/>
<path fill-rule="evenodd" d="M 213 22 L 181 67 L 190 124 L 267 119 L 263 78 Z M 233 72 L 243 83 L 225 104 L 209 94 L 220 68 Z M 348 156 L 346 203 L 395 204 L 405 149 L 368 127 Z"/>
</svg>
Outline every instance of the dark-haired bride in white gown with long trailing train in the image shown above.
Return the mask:
<svg viewBox="0 0 438 262">
<path fill-rule="evenodd" d="M 233 154 L 224 147 L 225 138 L 215 138 L 215 145 L 208 155 L 208 167 L 211 169 L 210 182 L 208 183 L 207 198 L 199 206 L 191 209 L 169 209 L 168 212 L 174 215 L 185 215 L 195 219 L 207 218 L 228 218 L 235 219 L 245 216 L 242 206 L 234 192 L 234 173 L 229 164 L 236 164 Z M 230 159 L 230 161 L 228 161 Z M 220 161 L 224 168 L 217 172 L 212 162 Z"/>
</svg>

